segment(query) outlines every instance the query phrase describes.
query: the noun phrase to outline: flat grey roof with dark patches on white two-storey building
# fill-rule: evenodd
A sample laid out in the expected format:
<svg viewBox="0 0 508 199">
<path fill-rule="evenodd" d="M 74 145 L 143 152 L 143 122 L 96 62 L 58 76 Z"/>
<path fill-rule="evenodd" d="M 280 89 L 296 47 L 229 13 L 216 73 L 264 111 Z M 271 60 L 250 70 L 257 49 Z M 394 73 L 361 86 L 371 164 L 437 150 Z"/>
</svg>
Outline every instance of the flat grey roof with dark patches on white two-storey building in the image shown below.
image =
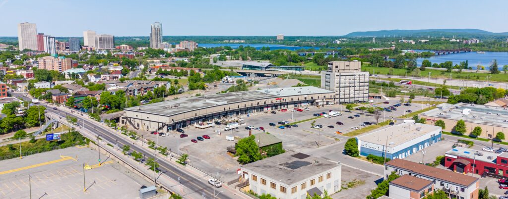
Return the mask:
<svg viewBox="0 0 508 199">
<path fill-rule="evenodd" d="M 288 151 L 242 166 L 252 172 L 292 185 L 302 180 L 339 167 L 324 158 Z"/>
</svg>

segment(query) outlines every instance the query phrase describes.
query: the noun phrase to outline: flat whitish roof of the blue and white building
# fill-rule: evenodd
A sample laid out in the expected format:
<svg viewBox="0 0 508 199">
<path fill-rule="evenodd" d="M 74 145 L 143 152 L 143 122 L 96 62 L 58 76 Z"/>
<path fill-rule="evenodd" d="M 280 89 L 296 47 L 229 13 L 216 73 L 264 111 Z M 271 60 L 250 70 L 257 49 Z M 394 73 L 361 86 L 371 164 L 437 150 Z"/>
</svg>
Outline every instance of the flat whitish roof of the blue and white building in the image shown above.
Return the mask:
<svg viewBox="0 0 508 199">
<path fill-rule="evenodd" d="M 417 139 L 427 133 L 439 131 L 441 127 L 415 123 L 413 120 L 404 120 L 404 123 L 385 129 L 377 130 L 359 136 L 358 139 L 379 145 L 385 145 L 388 138 L 388 147 L 395 147 L 409 140 Z"/>
</svg>

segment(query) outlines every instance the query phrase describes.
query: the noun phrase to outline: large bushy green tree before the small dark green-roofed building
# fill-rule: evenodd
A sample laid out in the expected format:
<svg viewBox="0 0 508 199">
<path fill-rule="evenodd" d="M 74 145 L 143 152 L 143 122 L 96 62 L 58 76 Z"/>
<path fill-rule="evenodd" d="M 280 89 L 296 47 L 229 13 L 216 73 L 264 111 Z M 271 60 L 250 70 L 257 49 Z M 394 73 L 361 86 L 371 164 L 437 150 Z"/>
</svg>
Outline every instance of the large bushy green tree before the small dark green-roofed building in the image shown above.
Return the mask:
<svg viewBox="0 0 508 199">
<path fill-rule="evenodd" d="M 242 165 L 261 160 L 261 153 L 254 135 L 238 140 L 235 148 L 238 162 Z"/>
</svg>

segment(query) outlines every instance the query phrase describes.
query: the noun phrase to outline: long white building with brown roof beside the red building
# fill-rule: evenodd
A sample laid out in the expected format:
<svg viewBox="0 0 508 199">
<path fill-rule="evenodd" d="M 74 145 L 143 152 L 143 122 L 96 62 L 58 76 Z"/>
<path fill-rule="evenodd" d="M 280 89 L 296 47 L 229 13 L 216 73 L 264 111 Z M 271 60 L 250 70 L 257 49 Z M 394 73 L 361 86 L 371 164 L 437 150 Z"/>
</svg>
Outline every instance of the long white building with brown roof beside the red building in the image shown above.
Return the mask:
<svg viewBox="0 0 508 199">
<path fill-rule="evenodd" d="M 472 176 L 438 169 L 400 158 L 385 163 L 385 177 L 388 178 L 392 172 L 400 176 L 410 175 L 432 181 L 434 190 L 443 190 L 450 195 L 451 198 L 478 199 L 480 179 Z"/>
</svg>

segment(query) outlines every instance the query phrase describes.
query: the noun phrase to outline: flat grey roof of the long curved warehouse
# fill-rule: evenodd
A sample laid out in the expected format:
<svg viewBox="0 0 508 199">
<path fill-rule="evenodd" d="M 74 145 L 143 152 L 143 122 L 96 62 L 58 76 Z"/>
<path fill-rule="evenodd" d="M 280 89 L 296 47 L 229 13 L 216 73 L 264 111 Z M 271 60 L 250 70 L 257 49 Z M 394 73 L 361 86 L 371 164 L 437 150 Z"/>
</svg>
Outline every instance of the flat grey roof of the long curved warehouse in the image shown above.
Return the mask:
<svg viewBox="0 0 508 199">
<path fill-rule="evenodd" d="M 124 110 L 146 112 L 158 115 L 171 116 L 192 110 L 245 102 L 266 98 L 288 97 L 295 95 L 334 93 L 326 89 L 316 87 L 289 87 L 277 89 L 264 89 L 253 91 L 241 91 L 234 93 L 221 93 L 199 97 L 182 98 L 153 104 L 125 108 Z"/>
</svg>

